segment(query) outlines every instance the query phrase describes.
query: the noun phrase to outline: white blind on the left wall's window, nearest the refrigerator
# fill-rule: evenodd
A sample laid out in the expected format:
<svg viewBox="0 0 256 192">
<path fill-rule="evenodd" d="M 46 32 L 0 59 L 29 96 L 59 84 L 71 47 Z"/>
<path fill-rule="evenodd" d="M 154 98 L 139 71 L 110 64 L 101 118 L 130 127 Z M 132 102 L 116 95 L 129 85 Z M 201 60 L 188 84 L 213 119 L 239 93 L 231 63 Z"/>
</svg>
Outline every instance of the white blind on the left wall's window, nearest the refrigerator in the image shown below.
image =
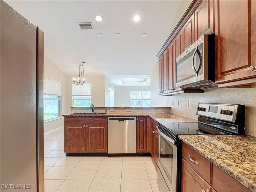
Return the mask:
<svg viewBox="0 0 256 192">
<path fill-rule="evenodd" d="M 62 96 L 62 82 L 44 78 L 44 94 Z"/>
</svg>

